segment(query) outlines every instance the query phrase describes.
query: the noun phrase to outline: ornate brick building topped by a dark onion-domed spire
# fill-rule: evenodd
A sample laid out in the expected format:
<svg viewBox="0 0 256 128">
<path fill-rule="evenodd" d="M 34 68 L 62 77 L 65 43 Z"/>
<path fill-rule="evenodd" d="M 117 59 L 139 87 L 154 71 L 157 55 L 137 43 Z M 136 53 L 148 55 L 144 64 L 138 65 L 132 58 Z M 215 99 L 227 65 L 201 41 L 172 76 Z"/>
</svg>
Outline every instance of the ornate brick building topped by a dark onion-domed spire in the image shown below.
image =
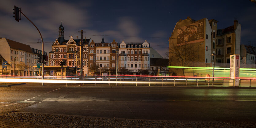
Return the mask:
<svg viewBox="0 0 256 128">
<path fill-rule="evenodd" d="M 64 27 L 61 23 L 59 26 L 59 37 L 53 42 L 52 51 L 49 53 L 49 67 L 45 68 L 46 75 L 50 75 L 50 71 L 52 70 L 52 75 L 61 76 L 60 62 L 66 60 L 66 65 L 63 66 L 65 68 L 63 76 L 79 76 L 79 70 L 77 71 L 78 74 L 75 74 L 75 66 L 80 67 L 80 57 L 83 57 L 83 76 L 87 76 L 88 43 L 90 43 L 90 39 L 83 39 L 82 42 L 83 54 L 80 55 L 81 40 L 74 39 L 73 36 L 70 36 L 69 40 L 65 40 Z"/>
</svg>

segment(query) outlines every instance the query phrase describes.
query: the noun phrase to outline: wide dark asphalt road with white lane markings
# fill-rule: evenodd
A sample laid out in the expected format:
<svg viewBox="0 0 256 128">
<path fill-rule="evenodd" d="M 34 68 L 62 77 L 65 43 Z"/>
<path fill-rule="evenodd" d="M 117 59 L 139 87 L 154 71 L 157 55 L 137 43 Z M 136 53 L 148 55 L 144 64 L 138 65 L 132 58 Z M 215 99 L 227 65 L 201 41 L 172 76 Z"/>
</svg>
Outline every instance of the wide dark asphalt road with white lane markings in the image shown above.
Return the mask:
<svg viewBox="0 0 256 128">
<path fill-rule="evenodd" d="M 256 88 L 0 87 L 0 112 L 256 121 Z"/>
</svg>

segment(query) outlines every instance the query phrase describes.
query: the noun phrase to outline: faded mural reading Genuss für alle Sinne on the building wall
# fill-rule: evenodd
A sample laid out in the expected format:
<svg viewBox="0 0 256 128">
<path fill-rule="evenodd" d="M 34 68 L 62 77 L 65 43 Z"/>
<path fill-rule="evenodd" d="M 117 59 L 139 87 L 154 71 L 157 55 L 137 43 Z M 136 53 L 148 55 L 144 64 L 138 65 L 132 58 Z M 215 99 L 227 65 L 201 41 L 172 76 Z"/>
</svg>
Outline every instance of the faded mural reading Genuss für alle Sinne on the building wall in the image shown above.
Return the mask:
<svg viewBox="0 0 256 128">
<path fill-rule="evenodd" d="M 204 20 L 200 20 L 187 26 L 178 28 L 177 37 L 178 44 L 204 41 Z"/>
</svg>

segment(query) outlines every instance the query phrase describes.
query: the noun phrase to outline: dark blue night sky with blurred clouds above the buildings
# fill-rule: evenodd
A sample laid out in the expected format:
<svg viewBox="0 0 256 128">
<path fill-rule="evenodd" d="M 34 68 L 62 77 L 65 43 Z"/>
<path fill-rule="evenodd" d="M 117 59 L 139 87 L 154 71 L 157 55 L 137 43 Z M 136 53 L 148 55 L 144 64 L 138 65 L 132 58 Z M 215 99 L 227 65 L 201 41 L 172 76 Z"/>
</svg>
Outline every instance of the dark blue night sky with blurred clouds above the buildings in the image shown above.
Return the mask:
<svg viewBox="0 0 256 128">
<path fill-rule="evenodd" d="M 126 43 L 147 40 L 163 57 L 168 52 L 168 38 L 179 19 L 188 16 L 194 20 L 203 18 L 219 21 L 217 28 L 234 24 L 234 18 L 242 25 L 241 44 L 256 47 L 256 7 L 249 0 L 217 1 L 54 1 L 54 0 L 1 0 L 0 37 L 28 44 L 42 50 L 37 43 L 40 36 L 36 28 L 24 17 L 14 20 L 14 5 L 21 8 L 36 24 L 44 39 L 44 49 L 49 54 L 52 42 L 58 38 L 59 25 L 63 24 L 64 38 L 80 39 L 78 31 L 86 31 L 86 39 L 101 42 L 116 40 Z M 96 36 L 93 36 L 96 35 Z"/>
</svg>

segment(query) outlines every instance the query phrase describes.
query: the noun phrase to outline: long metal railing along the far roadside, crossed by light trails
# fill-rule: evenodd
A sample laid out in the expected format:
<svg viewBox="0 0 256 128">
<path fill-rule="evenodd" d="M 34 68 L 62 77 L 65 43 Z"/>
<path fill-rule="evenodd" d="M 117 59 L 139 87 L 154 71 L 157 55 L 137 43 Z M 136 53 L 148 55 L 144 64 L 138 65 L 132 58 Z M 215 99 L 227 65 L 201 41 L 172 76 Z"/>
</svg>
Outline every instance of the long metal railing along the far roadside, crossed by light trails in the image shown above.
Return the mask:
<svg viewBox="0 0 256 128">
<path fill-rule="evenodd" d="M 41 76 L 0 76 L 1 78 L 18 78 L 18 79 L 42 79 Z M 61 80 L 61 77 L 45 76 L 44 79 L 50 80 Z M 80 77 L 63 77 L 63 80 L 67 81 L 72 85 L 72 83 L 80 82 Z M 72 82 L 68 82 L 72 81 Z M 212 82 L 214 82 L 214 87 L 227 87 L 234 85 L 234 79 L 230 78 L 199 78 L 199 77 L 165 77 L 165 76 L 156 76 L 156 77 L 147 77 L 147 76 L 117 76 L 117 82 L 113 84 L 113 81 L 116 81 L 115 76 L 92 76 L 92 77 L 83 77 L 82 81 L 90 81 L 90 83 L 96 85 L 118 85 L 125 86 L 190 86 L 190 87 L 212 87 Z M 93 82 L 97 81 L 97 82 Z M 102 81 L 99 83 L 98 81 Z M 105 82 L 104 82 L 105 81 Z M 84 83 L 84 82 L 83 82 Z M 239 87 L 256 87 L 255 78 L 240 78 Z"/>
</svg>

